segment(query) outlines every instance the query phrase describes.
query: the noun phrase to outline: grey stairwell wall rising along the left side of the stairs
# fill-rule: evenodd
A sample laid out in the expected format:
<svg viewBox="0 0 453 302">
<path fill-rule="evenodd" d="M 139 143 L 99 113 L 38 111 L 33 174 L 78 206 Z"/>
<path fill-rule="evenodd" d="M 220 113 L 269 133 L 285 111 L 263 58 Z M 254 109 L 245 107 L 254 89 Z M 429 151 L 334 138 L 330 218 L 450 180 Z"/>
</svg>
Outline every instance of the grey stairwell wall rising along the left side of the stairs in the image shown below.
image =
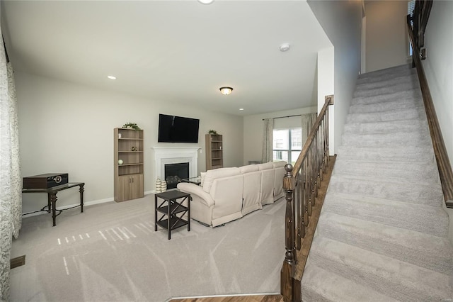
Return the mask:
<svg viewBox="0 0 453 302">
<path fill-rule="evenodd" d="M 335 138 L 331 151 L 341 145 L 341 135 L 360 72 L 362 1 L 307 1 L 333 44 L 335 57 Z M 321 79 L 318 79 L 321 82 Z M 319 84 L 319 83 L 318 83 Z M 321 96 L 319 96 L 321 97 Z"/>
</svg>

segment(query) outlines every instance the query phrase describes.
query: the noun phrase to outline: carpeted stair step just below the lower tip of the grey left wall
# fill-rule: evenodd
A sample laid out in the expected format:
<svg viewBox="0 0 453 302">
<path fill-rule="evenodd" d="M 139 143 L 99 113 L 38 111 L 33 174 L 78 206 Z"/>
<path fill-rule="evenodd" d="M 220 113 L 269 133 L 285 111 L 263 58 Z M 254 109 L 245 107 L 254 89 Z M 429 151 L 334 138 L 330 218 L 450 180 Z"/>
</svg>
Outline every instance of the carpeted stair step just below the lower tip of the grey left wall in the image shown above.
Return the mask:
<svg viewBox="0 0 453 302">
<path fill-rule="evenodd" d="M 417 179 L 418 181 L 439 182 L 437 166 L 432 162 L 383 162 L 336 160 L 336 174 L 367 177 L 370 171 L 375 177 L 386 179 Z"/>
</svg>

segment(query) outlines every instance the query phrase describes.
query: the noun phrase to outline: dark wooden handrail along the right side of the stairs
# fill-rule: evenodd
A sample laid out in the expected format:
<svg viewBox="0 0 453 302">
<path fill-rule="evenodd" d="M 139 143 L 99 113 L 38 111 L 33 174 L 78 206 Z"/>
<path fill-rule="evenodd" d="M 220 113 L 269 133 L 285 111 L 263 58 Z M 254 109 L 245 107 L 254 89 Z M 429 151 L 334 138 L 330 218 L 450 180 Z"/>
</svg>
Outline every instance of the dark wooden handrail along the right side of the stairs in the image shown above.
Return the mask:
<svg viewBox="0 0 453 302">
<path fill-rule="evenodd" d="M 439 170 L 440 182 L 442 184 L 442 192 L 445 199 L 445 206 L 453 208 L 453 172 L 452 165 L 450 164 L 447 148 L 442 138 L 442 131 L 440 129 L 439 121 L 432 101 L 430 87 L 428 80 L 425 76 L 425 71 L 421 60 L 425 57 L 424 52 L 420 52 L 420 47 L 424 46 L 424 35 L 426 23 L 428 23 L 429 13 L 431 11 L 432 0 L 428 1 L 415 1 L 415 9 L 413 16 L 407 15 L 407 29 L 411 45 L 413 49 L 413 65 L 417 69 L 418 80 L 420 82 L 420 89 L 423 96 L 423 104 L 425 105 L 426 116 L 428 118 L 428 126 L 430 128 L 430 135 L 432 140 L 432 147 L 437 162 L 437 169 Z M 413 21 L 413 26 L 411 26 Z"/>
</svg>

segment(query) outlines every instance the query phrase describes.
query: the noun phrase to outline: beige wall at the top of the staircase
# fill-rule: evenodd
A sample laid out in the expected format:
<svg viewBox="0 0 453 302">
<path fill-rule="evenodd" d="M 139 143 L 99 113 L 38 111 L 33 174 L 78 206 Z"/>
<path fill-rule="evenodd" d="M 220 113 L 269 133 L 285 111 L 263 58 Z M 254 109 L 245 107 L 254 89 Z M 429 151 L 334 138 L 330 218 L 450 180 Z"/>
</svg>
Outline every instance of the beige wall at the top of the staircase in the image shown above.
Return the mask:
<svg viewBox="0 0 453 302">
<path fill-rule="evenodd" d="M 366 71 L 408 62 L 408 1 L 365 1 L 367 16 Z"/>
</svg>

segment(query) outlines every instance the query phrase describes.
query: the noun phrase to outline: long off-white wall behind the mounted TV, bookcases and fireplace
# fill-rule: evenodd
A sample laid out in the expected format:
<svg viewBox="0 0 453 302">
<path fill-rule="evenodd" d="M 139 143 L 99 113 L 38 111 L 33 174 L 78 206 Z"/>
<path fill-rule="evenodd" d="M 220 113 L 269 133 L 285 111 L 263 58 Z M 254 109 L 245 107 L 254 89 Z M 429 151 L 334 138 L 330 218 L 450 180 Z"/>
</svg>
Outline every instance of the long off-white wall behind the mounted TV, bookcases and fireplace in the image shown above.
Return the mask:
<svg viewBox="0 0 453 302">
<path fill-rule="evenodd" d="M 84 181 L 86 203 L 113 200 L 113 128 L 127 122 L 144 129 L 144 191 L 154 190 L 154 154 L 159 113 L 200 118 L 198 173 L 205 171 L 205 133 L 224 135 L 224 165 L 243 161 L 243 119 L 200 108 L 151 101 L 55 79 L 16 72 L 16 93 L 23 177 L 69 173 L 69 181 Z M 23 213 L 47 204 L 45 194 L 23 194 Z M 79 202 L 78 190 L 61 191 L 57 206 Z"/>
</svg>

